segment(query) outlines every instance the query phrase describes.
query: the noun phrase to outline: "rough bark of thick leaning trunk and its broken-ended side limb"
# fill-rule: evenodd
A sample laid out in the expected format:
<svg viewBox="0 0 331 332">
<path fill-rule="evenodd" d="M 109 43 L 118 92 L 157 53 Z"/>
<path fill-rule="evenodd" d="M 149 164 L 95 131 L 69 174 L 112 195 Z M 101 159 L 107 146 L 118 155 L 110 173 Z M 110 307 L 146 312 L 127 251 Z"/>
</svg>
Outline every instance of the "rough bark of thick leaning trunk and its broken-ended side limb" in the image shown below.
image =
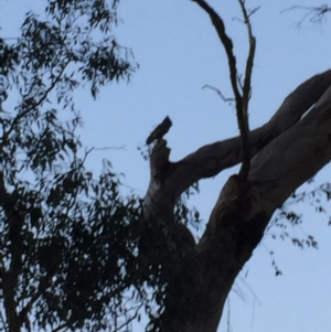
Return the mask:
<svg viewBox="0 0 331 332">
<path fill-rule="evenodd" d="M 247 181 L 225 183 L 199 244 L 190 244 L 160 317 L 162 331 L 214 332 L 231 287 L 260 242 L 273 213 L 331 159 L 331 71 L 298 86 L 271 119 L 250 132 Z M 171 221 L 178 197 L 194 182 L 241 162 L 238 137 L 202 147 L 177 163 L 166 141 L 151 154 L 146 213 L 157 226 Z M 186 232 L 189 232 L 186 229 Z M 180 285 L 180 287 L 179 287 Z M 181 320 L 184 299 L 194 314 Z M 167 307 L 168 306 L 168 307 Z"/>
</svg>

